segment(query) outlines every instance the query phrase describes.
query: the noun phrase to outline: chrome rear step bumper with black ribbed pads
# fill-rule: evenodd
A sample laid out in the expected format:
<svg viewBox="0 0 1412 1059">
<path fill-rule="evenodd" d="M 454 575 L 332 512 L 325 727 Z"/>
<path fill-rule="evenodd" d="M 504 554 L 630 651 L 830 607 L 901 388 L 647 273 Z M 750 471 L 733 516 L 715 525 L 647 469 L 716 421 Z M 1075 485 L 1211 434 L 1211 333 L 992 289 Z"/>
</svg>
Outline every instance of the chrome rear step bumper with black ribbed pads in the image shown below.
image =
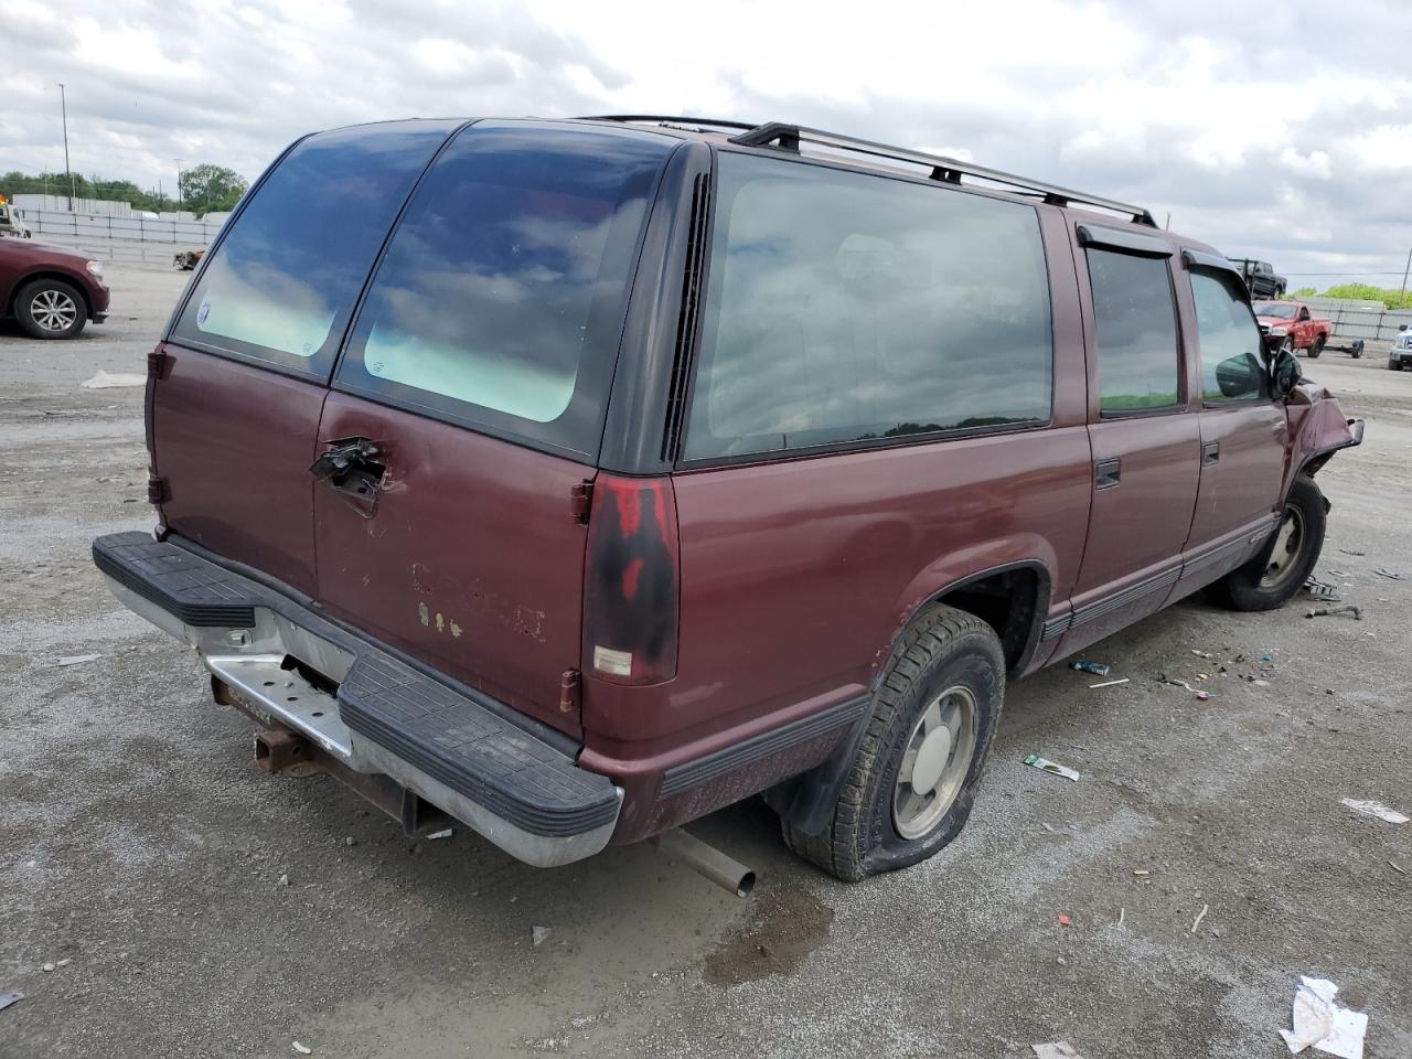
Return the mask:
<svg viewBox="0 0 1412 1059">
<path fill-rule="evenodd" d="M 249 712 L 347 770 L 390 777 L 528 864 L 582 860 L 611 837 L 621 791 L 503 703 L 175 538 L 100 537 L 93 562 L 124 606 L 195 647 Z"/>
</svg>

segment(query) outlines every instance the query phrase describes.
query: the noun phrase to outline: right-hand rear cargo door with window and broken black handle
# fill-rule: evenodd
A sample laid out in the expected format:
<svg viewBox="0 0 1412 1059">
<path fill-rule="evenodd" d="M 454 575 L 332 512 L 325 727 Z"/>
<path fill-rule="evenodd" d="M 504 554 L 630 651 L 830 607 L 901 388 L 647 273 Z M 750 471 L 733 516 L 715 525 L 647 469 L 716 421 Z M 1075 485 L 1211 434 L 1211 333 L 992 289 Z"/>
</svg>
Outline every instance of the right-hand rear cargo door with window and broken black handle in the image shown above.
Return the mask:
<svg viewBox="0 0 1412 1059">
<path fill-rule="evenodd" d="M 675 147 L 462 130 L 388 241 L 319 426 L 326 610 L 573 736 L 586 487 Z"/>
</svg>

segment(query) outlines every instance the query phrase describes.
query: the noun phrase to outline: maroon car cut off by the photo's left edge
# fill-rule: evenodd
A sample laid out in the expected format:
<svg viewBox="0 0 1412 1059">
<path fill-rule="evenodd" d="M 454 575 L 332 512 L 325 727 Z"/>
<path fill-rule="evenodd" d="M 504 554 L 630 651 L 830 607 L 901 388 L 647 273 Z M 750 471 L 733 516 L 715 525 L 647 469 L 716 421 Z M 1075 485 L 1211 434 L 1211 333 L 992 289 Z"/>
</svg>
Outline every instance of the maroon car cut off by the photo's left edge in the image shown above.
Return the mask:
<svg viewBox="0 0 1412 1059">
<path fill-rule="evenodd" d="M 0 316 L 37 339 L 71 339 L 107 319 L 103 263 L 61 246 L 0 239 Z"/>
</svg>

